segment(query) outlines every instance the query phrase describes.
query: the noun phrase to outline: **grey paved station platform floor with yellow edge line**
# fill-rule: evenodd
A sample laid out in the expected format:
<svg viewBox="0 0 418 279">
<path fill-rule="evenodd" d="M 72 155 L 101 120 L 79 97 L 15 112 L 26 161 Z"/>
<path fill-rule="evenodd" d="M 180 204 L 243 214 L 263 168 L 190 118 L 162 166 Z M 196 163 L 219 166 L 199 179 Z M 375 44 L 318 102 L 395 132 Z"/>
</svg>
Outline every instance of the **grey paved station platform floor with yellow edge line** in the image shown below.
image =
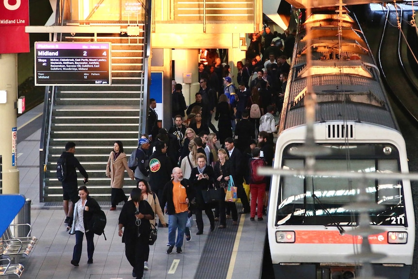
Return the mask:
<svg viewBox="0 0 418 279">
<path fill-rule="evenodd" d="M 17 119 L 18 169 L 20 194 L 32 200 L 32 236 L 38 242 L 28 257 L 20 261 L 25 267 L 22 279 L 130 279 L 132 267 L 125 257 L 125 244 L 118 236 L 117 223 L 121 206 L 109 211 L 110 202 L 99 203 L 107 215 L 103 235 L 94 237 L 94 263 L 87 264 L 86 242 L 79 267 L 72 259 L 75 236 L 65 231 L 62 203 L 39 200 L 39 142 L 43 104 Z M 76 154 L 77 156 L 77 154 Z M 104 170 L 103 170 L 104 172 Z M 88 187 L 88 185 L 87 185 Z M 168 219 L 167 219 L 168 220 Z M 239 214 L 238 225 L 227 220 L 226 229 L 209 231 L 209 220 L 203 216 L 204 233 L 184 242 L 183 253 L 166 254 L 168 229 L 159 228 L 158 239 L 150 246 L 149 267 L 144 279 L 257 279 L 261 278 L 266 218 L 250 221 L 249 214 Z"/>
</svg>

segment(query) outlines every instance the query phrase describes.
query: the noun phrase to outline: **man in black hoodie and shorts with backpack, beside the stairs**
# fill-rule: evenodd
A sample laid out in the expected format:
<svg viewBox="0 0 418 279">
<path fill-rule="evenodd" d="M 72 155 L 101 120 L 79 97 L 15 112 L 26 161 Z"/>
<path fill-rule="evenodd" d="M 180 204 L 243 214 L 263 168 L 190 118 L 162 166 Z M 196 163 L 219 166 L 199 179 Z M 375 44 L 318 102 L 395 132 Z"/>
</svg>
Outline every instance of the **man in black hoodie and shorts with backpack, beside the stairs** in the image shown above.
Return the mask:
<svg viewBox="0 0 418 279">
<path fill-rule="evenodd" d="M 89 179 L 89 175 L 82 167 L 79 160 L 74 157 L 74 153 L 76 153 L 76 144 L 67 142 L 65 144 L 65 152 L 63 152 L 60 157 L 61 162 L 65 165 L 65 176 L 61 182 L 63 185 L 63 207 L 66 216 L 64 222 L 67 223 L 68 226 L 71 226 L 73 223 L 74 204 L 79 200 L 76 168 L 79 169 L 81 175 L 84 177 L 84 184 L 87 183 Z"/>
</svg>

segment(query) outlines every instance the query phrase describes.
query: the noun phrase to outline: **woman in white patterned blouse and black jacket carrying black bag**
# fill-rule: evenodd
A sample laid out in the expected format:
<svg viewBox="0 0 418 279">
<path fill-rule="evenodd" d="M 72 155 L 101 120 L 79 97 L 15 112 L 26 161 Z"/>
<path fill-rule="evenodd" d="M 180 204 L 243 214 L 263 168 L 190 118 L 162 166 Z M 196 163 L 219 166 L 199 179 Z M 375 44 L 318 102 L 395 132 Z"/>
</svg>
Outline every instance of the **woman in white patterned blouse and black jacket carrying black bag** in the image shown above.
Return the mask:
<svg viewBox="0 0 418 279">
<path fill-rule="evenodd" d="M 93 242 L 94 233 L 90 230 L 90 222 L 93 214 L 100 211 L 100 206 L 94 198 L 89 196 L 86 186 L 79 188 L 79 197 L 79 201 L 74 205 L 73 224 L 70 231 L 70 234 L 76 235 L 76 245 L 74 246 L 73 259 L 71 260 L 71 264 L 74 266 L 79 266 L 80 263 L 84 233 L 87 240 L 87 263 L 93 263 L 95 245 Z M 67 230 L 69 228 L 67 227 Z"/>
</svg>

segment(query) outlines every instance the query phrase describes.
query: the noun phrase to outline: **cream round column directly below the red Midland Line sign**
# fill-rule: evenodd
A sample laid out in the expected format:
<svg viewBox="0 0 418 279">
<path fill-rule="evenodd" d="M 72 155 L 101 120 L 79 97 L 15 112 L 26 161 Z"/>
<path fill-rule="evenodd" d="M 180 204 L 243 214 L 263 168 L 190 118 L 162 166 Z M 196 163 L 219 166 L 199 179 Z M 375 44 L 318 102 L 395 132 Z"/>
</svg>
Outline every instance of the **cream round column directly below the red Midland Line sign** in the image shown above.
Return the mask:
<svg viewBox="0 0 418 279">
<path fill-rule="evenodd" d="M 0 155 L 2 156 L 3 194 L 19 193 L 17 169 L 17 54 L 0 54 L 0 90 L 6 91 L 6 103 L 0 103 Z M 13 146 L 13 147 L 12 147 Z M 14 150 L 12 150 L 14 149 Z M 12 154 L 14 156 L 12 156 Z M 13 158 L 12 158 L 13 157 Z"/>
</svg>

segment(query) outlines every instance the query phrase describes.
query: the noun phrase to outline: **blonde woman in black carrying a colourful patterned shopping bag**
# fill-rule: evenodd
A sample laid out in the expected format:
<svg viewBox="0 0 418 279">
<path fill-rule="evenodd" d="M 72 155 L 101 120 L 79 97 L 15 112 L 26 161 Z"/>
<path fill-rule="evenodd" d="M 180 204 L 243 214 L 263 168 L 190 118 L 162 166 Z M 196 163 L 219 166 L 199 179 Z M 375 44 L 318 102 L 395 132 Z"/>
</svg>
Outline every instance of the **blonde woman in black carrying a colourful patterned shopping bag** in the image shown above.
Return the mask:
<svg viewBox="0 0 418 279">
<path fill-rule="evenodd" d="M 228 157 L 224 148 L 218 149 L 219 161 L 216 162 L 213 168 L 215 174 L 216 186 L 221 188 L 228 188 L 229 174 L 231 173 L 231 164 L 229 164 Z M 238 211 L 235 202 L 226 202 L 225 196 L 224 201 L 219 202 L 219 223 L 218 229 L 226 228 L 226 208 L 232 214 L 232 225 L 237 225 Z"/>
</svg>

